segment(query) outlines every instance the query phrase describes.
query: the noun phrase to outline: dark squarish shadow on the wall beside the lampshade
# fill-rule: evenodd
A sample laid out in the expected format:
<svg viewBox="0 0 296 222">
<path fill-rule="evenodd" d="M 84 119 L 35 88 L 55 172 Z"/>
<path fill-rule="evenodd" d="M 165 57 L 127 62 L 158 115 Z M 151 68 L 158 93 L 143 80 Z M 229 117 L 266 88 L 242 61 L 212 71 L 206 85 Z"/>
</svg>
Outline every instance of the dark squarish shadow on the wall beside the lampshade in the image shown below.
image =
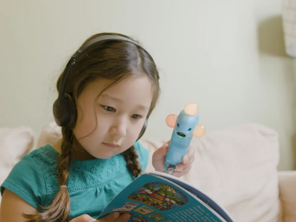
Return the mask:
<svg viewBox="0 0 296 222">
<path fill-rule="evenodd" d="M 282 17 L 270 17 L 258 25 L 258 49 L 261 54 L 289 57 L 285 52 Z"/>
</svg>

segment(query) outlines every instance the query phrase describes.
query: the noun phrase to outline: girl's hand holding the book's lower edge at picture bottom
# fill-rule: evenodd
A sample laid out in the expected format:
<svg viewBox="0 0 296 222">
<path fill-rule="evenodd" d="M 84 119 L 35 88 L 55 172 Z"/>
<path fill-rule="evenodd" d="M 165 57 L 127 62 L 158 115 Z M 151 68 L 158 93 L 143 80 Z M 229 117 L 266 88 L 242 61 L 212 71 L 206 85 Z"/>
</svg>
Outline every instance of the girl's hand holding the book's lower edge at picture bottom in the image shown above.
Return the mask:
<svg viewBox="0 0 296 222">
<path fill-rule="evenodd" d="M 92 222 L 92 221 L 98 221 L 98 222 L 127 222 L 128 219 L 130 218 L 130 214 L 128 213 L 123 213 L 119 215 L 118 212 L 115 213 L 110 213 L 98 220 L 92 218 L 91 216 L 87 214 L 83 214 L 79 217 L 74 218 L 70 222 Z"/>
</svg>

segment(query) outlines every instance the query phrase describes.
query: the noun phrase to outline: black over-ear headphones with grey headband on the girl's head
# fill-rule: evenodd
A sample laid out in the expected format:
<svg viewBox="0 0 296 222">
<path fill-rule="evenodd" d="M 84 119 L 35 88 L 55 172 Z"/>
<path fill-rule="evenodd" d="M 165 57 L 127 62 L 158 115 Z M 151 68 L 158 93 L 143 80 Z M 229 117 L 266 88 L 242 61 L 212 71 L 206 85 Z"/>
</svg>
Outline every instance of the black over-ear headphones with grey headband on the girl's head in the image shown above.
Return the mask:
<svg viewBox="0 0 296 222">
<path fill-rule="evenodd" d="M 65 84 L 66 84 L 66 79 L 67 76 L 70 73 L 70 70 L 72 68 L 72 66 L 75 64 L 77 58 L 91 45 L 96 44 L 100 41 L 105 41 L 105 40 L 120 40 L 120 41 L 128 41 L 131 42 L 137 46 L 139 46 L 141 49 L 143 49 L 142 46 L 140 46 L 137 42 L 133 41 L 132 39 L 123 37 L 123 36 L 118 36 L 118 35 L 104 35 L 104 36 L 99 36 L 96 38 L 91 39 L 90 41 L 88 41 L 86 44 L 84 44 L 83 46 L 81 46 L 80 49 L 78 49 L 73 56 L 71 57 L 71 59 L 69 60 L 69 62 L 66 65 L 65 71 L 62 74 L 61 77 L 61 81 L 59 83 L 59 95 L 57 100 L 54 102 L 53 105 L 53 114 L 54 114 L 54 120 L 57 123 L 58 126 L 61 127 L 69 127 L 73 124 L 73 122 L 76 120 L 76 108 L 75 105 L 73 103 L 73 100 L 71 98 L 71 96 L 67 93 L 65 93 Z M 145 50 L 145 49 L 143 49 Z M 145 52 L 147 52 L 145 50 Z M 147 54 L 149 54 L 147 52 Z M 143 136 L 146 127 L 147 127 L 147 123 L 148 123 L 148 116 L 144 122 L 144 126 L 139 134 L 139 137 L 137 140 L 139 140 L 141 138 L 141 136 Z"/>
</svg>

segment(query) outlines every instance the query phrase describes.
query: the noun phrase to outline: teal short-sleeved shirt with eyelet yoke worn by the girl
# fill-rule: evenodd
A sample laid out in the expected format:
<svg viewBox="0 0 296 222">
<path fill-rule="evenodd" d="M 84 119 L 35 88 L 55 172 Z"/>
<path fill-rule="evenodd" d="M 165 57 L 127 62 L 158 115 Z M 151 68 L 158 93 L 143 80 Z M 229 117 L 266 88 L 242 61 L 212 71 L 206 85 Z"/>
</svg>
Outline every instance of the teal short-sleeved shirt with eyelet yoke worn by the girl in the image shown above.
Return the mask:
<svg viewBox="0 0 296 222">
<path fill-rule="evenodd" d="M 144 171 L 149 151 L 138 141 L 134 145 Z M 37 209 L 40 205 L 50 205 L 59 190 L 56 174 L 58 155 L 47 144 L 22 157 L 1 185 L 1 195 L 7 188 Z M 123 154 L 109 159 L 73 160 L 72 165 L 67 189 L 70 216 L 74 218 L 82 214 L 97 218 L 104 207 L 134 179 L 126 167 Z"/>
</svg>

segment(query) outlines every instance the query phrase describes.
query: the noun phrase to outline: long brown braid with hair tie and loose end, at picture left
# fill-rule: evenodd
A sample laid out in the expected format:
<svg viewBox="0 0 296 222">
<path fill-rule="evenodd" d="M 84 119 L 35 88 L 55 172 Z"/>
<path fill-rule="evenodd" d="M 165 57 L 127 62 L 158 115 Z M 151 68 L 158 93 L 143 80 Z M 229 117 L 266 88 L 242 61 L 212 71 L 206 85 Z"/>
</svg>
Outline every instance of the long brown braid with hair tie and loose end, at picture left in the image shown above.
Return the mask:
<svg viewBox="0 0 296 222">
<path fill-rule="evenodd" d="M 73 146 L 73 133 L 71 130 L 62 128 L 63 142 L 62 152 L 57 160 L 57 177 L 60 186 L 67 186 L 69 177 L 68 165 L 71 161 L 71 149 Z M 42 207 L 36 214 L 24 214 L 23 216 L 28 219 L 27 222 L 68 222 L 70 221 L 70 197 L 66 187 L 60 187 L 57 196 L 54 198 L 51 205 Z"/>
</svg>

